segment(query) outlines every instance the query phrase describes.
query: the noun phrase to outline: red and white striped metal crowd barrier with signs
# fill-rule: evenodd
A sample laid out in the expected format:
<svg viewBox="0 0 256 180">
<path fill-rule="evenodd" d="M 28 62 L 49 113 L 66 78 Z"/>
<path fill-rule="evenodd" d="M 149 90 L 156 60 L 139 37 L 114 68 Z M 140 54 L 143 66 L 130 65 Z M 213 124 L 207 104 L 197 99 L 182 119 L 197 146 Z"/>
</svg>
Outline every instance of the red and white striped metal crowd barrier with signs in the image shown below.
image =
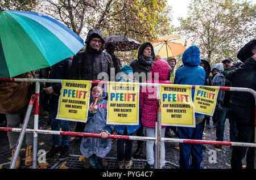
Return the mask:
<svg viewBox="0 0 256 180">
<path fill-rule="evenodd" d="M 22 128 L 4 128 L 0 127 L 0 131 L 14 131 L 14 132 L 21 132 L 19 135 L 18 145 L 15 149 L 15 155 L 13 161 L 11 162 L 10 168 L 13 169 L 16 164 L 16 160 L 18 158 L 18 153 L 20 147 L 23 142 L 23 137 L 25 132 L 33 132 L 34 133 L 34 145 L 33 145 L 33 164 L 32 168 L 36 169 L 36 155 L 37 155 L 37 145 L 38 145 L 38 133 L 39 134 L 56 134 L 56 135 L 71 135 L 71 136 L 90 136 L 100 138 L 99 134 L 92 134 L 92 133 L 84 133 L 84 132 L 67 132 L 67 131 L 48 131 L 48 130 L 39 130 L 38 129 L 38 120 L 39 120 L 39 92 L 40 92 L 40 83 L 61 83 L 62 80 L 59 79 L 22 79 L 22 78 L 0 78 L 0 81 L 4 82 L 35 82 L 35 95 L 31 97 L 30 104 L 28 105 L 27 113 L 25 116 L 25 120 L 23 122 Z M 92 84 L 97 84 L 98 82 L 92 81 Z M 101 82 L 102 83 L 102 82 Z M 104 82 L 107 83 L 107 82 Z M 173 138 L 162 138 L 161 137 L 161 116 L 160 116 L 160 84 L 154 83 L 139 83 L 142 86 L 157 86 L 158 93 L 158 122 L 156 123 L 156 136 L 155 138 L 152 137 L 141 137 L 141 136 L 124 136 L 124 135 L 109 135 L 108 138 L 112 139 L 130 139 L 130 140 L 154 140 L 155 141 L 155 168 L 161 169 L 161 142 L 164 140 L 165 142 L 177 142 L 177 143 L 189 143 L 189 144 L 215 144 L 215 145 L 232 145 L 232 146 L 245 146 L 245 147 L 256 147 L 256 110 L 255 110 L 255 139 L 254 143 L 239 143 L 239 142 L 217 142 L 217 141 L 209 141 L 209 140 L 195 140 L 195 139 L 173 139 Z M 183 85 L 180 85 L 181 87 Z M 201 86 L 201 85 L 200 85 Z M 192 88 L 195 89 L 196 85 L 192 85 Z M 240 91 L 240 92 L 249 92 L 254 96 L 255 99 L 255 109 L 256 109 L 256 92 L 253 89 L 249 88 L 236 88 L 236 87 L 218 87 L 220 90 L 223 91 Z M 30 117 L 30 113 L 32 107 L 35 102 L 35 118 L 34 118 L 34 129 L 27 129 L 27 123 Z M 255 151 L 256 154 L 256 151 Z M 256 156 L 255 156 L 256 158 Z M 255 164 L 254 158 L 254 164 Z"/>
</svg>

